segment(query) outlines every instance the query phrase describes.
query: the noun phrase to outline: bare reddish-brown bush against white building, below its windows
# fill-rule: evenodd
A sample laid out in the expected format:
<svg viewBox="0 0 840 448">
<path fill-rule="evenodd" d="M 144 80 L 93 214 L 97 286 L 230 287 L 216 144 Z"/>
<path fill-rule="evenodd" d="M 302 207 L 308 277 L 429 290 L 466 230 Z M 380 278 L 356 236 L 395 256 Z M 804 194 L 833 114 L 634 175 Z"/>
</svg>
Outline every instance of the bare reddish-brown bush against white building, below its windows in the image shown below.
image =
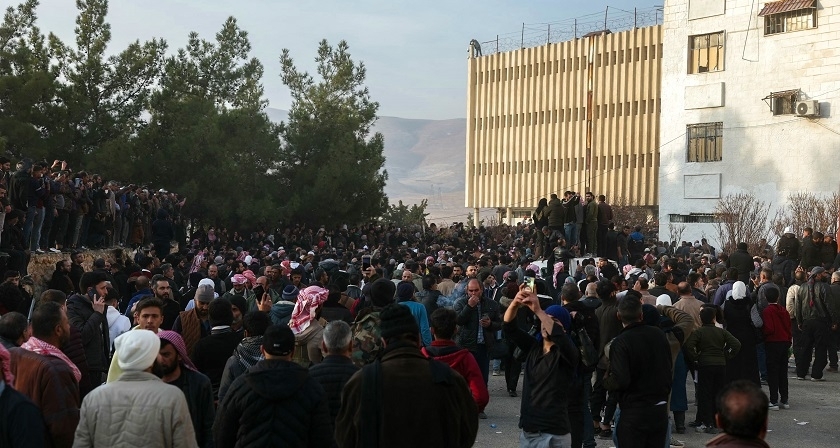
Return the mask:
<svg viewBox="0 0 840 448">
<path fill-rule="evenodd" d="M 722 251 L 731 253 L 740 242 L 749 246 L 750 253 L 760 253 L 759 240 L 770 233 L 767 216 L 770 204 L 760 201 L 753 193 L 728 194 L 715 206 L 718 241 Z"/>
</svg>

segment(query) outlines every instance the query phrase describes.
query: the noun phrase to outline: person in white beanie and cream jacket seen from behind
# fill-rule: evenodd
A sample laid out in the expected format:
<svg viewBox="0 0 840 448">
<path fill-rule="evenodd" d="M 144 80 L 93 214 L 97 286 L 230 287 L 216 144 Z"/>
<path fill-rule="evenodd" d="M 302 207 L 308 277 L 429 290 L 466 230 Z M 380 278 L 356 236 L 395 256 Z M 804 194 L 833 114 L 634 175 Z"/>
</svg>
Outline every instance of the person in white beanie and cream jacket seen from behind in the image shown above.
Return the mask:
<svg viewBox="0 0 840 448">
<path fill-rule="evenodd" d="M 160 350 L 158 335 L 132 330 L 115 345 L 124 373 L 82 401 L 73 446 L 197 447 L 184 394 L 151 373 Z"/>
</svg>

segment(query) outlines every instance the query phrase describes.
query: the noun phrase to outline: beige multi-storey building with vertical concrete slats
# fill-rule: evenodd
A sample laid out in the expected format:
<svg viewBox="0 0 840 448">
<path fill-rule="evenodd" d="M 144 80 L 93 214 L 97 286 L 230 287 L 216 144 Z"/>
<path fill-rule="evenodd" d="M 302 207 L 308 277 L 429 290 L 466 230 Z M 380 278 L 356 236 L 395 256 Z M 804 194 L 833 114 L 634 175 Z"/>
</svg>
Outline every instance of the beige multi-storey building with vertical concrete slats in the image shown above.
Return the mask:
<svg viewBox="0 0 840 448">
<path fill-rule="evenodd" d="M 633 21 L 631 20 L 631 25 Z M 658 203 L 662 27 L 597 31 L 468 62 L 466 206 L 529 217 L 592 191 Z"/>
</svg>

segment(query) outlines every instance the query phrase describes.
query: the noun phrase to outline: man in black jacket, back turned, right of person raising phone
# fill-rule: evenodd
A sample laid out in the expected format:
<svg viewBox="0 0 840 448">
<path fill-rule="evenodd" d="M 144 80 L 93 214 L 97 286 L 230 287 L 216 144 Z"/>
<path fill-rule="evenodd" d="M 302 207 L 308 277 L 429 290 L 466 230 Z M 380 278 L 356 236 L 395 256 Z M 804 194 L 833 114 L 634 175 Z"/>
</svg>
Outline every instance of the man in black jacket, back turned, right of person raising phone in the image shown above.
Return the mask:
<svg viewBox="0 0 840 448">
<path fill-rule="evenodd" d="M 604 387 L 615 391 L 622 448 L 662 446 L 668 432 L 671 347 L 662 330 L 642 322 L 642 302 L 627 295 L 618 302 L 624 329 L 612 340 Z"/>
</svg>

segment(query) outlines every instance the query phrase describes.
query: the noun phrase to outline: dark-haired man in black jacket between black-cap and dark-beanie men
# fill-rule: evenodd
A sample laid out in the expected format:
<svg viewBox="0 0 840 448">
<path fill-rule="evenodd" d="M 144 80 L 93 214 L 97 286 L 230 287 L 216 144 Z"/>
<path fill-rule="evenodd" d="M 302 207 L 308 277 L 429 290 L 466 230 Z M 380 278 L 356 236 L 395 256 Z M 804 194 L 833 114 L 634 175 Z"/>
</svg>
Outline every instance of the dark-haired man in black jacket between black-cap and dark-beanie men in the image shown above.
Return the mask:
<svg viewBox="0 0 840 448">
<path fill-rule="evenodd" d="M 330 400 L 330 418 L 335 422 L 341 408 L 341 391 L 347 380 L 359 370 L 350 359 L 350 353 L 353 351 L 353 332 L 350 325 L 343 320 L 327 324 L 321 350 L 327 355 L 323 361 L 309 368 L 309 375 L 327 392 L 327 398 Z"/>
</svg>

